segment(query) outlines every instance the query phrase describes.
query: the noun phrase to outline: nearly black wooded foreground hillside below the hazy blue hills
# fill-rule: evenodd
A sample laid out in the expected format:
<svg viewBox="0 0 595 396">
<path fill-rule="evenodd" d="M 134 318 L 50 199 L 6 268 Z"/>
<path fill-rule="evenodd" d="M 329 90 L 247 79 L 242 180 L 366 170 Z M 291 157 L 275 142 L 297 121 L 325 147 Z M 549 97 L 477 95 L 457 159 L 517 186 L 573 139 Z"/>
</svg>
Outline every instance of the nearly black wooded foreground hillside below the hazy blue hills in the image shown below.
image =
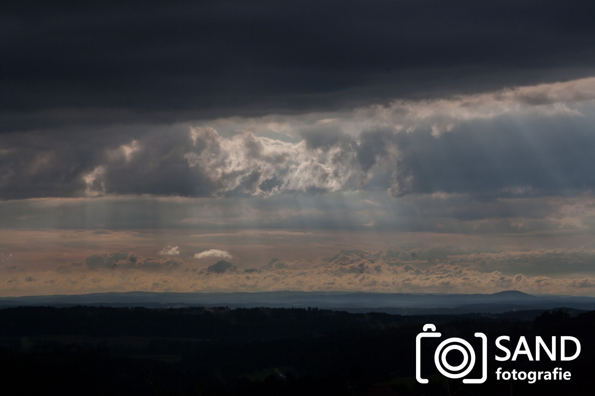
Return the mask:
<svg viewBox="0 0 595 396">
<path fill-rule="evenodd" d="M 415 381 L 415 337 L 426 323 L 443 337 L 488 340 L 572 335 L 569 362 L 496 362 L 488 381 L 446 381 L 424 366 Z M 19 394 L 68 395 L 559 395 L 592 394 L 595 312 L 388 315 L 284 308 L 71 308 L 0 310 L 0 376 Z M 516 343 L 515 343 L 516 344 Z M 531 345 L 531 341 L 530 341 Z M 514 346 L 510 346 L 511 350 Z M 533 345 L 531 345 L 533 349 Z M 433 350 L 422 350 L 433 362 Z M 505 370 L 572 372 L 570 381 L 496 381 Z"/>
</svg>

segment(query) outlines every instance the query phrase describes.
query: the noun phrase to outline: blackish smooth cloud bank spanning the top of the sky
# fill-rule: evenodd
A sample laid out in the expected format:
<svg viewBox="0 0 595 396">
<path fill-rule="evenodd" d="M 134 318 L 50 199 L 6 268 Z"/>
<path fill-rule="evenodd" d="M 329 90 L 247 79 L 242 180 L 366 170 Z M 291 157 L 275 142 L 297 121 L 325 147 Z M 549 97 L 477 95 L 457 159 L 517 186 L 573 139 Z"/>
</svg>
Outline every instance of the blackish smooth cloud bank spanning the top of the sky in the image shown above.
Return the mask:
<svg viewBox="0 0 595 396">
<path fill-rule="evenodd" d="M 3 2 L 0 125 L 334 109 L 593 71 L 593 3 Z"/>
</svg>

